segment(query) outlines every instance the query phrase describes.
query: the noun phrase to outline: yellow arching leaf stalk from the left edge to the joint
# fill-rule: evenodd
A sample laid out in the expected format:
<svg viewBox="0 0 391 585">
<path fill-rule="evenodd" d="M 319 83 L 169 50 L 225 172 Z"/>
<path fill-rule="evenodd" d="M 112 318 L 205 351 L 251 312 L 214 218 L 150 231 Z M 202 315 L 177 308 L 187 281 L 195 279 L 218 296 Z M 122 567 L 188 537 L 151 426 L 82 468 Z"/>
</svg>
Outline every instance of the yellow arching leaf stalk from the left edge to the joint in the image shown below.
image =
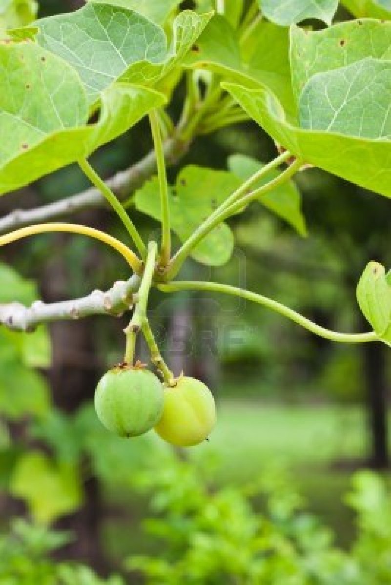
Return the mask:
<svg viewBox="0 0 391 585">
<path fill-rule="evenodd" d="M 138 259 L 136 254 L 128 248 L 128 246 L 125 246 L 124 243 L 109 236 L 108 233 L 101 232 L 99 229 L 89 228 L 86 225 L 79 225 L 78 223 L 38 223 L 37 225 L 16 229 L 14 232 L 0 236 L 0 246 L 16 242 L 16 240 L 26 238 L 27 236 L 50 232 L 78 233 L 83 236 L 88 236 L 89 238 L 94 238 L 95 240 L 100 240 L 124 256 L 129 266 L 131 266 L 136 273 L 140 273 L 142 270 L 142 262 Z"/>
</svg>

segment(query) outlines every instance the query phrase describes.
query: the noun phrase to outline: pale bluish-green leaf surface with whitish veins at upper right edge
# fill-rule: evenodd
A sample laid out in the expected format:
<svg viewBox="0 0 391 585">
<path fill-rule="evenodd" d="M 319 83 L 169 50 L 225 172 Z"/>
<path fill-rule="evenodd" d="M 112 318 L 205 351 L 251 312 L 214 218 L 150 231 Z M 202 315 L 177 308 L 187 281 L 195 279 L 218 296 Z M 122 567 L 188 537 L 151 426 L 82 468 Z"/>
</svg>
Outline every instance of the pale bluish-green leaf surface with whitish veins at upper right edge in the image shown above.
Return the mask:
<svg viewBox="0 0 391 585">
<path fill-rule="evenodd" d="M 300 126 L 363 138 L 391 137 L 391 61 L 362 59 L 318 73 L 300 97 Z"/>
</svg>

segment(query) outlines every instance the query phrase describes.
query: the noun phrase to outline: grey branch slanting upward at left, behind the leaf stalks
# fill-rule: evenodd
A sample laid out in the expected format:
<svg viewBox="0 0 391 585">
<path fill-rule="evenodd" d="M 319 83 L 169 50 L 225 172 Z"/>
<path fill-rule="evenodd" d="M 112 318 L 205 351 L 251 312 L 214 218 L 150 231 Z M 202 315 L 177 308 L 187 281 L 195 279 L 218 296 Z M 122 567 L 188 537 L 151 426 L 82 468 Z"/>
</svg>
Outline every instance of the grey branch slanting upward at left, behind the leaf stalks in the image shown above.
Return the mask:
<svg viewBox="0 0 391 585">
<path fill-rule="evenodd" d="M 188 150 L 189 142 L 175 136 L 164 143 L 164 155 L 168 164 L 174 164 Z M 108 187 L 119 197 L 124 199 L 131 192 L 139 188 L 146 179 L 156 171 L 155 152 L 150 152 L 132 167 L 116 173 L 106 181 Z M 36 209 L 16 209 L 3 218 L 0 218 L 0 234 L 8 233 L 16 228 L 23 228 L 33 223 L 42 223 L 73 214 L 83 209 L 101 207 L 106 200 L 101 192 L 95 188 L 87 189 L 77 195 L 71 195 L 60 201 L 42 205 Z"/>
</svg>

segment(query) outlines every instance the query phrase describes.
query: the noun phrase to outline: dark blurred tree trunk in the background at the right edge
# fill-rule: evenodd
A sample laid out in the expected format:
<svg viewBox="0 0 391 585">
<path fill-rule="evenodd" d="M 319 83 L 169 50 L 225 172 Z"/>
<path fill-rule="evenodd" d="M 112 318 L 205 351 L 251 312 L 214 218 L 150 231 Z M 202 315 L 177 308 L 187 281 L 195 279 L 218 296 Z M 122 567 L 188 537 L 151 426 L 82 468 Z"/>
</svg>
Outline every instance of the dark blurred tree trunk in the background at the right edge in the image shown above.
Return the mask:
<svg viewBox="0 0 391 585">
<path fill-rule="evenodd" d="M 389 466 L 386 348 L 380 343 L 363 343 L 361 349 L 366 415 L 371 437 L 369 462 L 375 469 L 385 469 Z"/>
</svg>

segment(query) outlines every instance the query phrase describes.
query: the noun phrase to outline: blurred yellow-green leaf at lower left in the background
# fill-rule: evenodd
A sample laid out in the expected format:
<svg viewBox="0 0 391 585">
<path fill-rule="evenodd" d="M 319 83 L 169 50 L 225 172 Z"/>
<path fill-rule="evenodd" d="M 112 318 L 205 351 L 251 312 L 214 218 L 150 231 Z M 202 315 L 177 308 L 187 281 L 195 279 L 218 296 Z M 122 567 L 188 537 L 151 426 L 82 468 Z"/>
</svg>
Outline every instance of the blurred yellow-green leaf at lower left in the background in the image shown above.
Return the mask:
<svg viewBox="0 0 391 585">
<path fill-rule="evenodd" d="M 10 491 L 26 501 L 32 517 L 42 524 L 74 512 L 83 501 L 77 467 L 56 465 L 39 451 L 19 459 Z"/>
</svg>

